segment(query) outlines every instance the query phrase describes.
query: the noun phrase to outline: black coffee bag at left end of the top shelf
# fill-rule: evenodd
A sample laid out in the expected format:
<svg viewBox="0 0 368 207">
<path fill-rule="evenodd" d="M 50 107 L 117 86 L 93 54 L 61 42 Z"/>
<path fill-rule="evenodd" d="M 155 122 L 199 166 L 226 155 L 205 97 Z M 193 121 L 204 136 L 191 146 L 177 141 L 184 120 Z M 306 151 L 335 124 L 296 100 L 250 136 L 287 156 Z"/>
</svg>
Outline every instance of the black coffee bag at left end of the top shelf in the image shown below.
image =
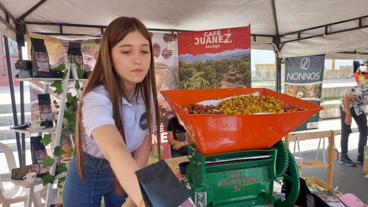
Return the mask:
<svg viewBox="0 0 368 207">
<path fill-rule="evenodd" d="M 44 40 L 31 37 L 31 43 L 33 77 L 51 77 L 49 56 Z"/>
</svg>

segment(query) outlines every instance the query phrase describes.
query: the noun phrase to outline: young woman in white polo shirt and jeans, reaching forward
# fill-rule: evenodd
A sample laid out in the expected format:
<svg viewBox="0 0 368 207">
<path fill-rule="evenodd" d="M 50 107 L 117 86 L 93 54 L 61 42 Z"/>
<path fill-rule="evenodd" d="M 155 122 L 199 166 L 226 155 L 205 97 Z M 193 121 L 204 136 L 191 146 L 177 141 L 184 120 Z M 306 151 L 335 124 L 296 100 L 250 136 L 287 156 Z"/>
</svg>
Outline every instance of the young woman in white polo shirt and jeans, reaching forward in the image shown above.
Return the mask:
<svg viewBox="0 0 368 207">
<path fill-rule="evenodd" d="M 119 17 L 107 26 L 78 107 L 65 207 L 100 207 L 102 197 L 106 207 L 144 206 L 134 172 L 146 166 L 159 129 L 152 54 L 139 20 Z"/>
</svg>

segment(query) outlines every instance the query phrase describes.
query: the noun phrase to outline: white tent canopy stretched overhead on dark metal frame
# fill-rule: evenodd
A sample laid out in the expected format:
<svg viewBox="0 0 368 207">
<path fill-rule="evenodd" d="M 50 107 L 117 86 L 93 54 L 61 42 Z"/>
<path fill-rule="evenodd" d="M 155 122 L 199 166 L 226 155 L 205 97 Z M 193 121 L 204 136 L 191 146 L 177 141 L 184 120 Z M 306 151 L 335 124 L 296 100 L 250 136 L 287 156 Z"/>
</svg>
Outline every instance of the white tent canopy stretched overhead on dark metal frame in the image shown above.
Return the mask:
<svg viewBox="0 0 368 207">
<path fill-rule="evenodd" d="M 281 36 L 280 57 L 313 54 L 356 58 L 368 52 L 367 0 L 0 0 L 15 19 L 25 22 L 28 32 L 101 35 L 101 28 L 119 16 L 134 16 L 147 28 L 209 30 L 248 26 L 252 41 L 272 42 Z M 35 5 L 40 5 L 35 8 Z M 35 9 L 34 9 L 35 8 Z M 1 12 L 0 12 L 1 13 Z M 0 16 L 6 19 L 5 13 Z M 333 24 L 362 17 L 349 22 Z M 53 23 L 36 25 L 34 23 Z M 0 32 L 15 39 L 15 32 L 0 22 Z M 63 24 L 61 25 L 58 24 Z M 66 24 L 76 24 L 67 25 Z M 86 27 L 98 26 L 98 27 Z M 83 27 L 74 27 L 83 26 Z M 315 28 L 315 30 L 298 31 Z M 356 30 L 338 32 L 356 28 Z M 360 28 L 360 29 L 357 29 Z M 289 34 L 297 32 L 294 34 Z M 289 34 L 289 35 L 287 35 Z M 300 40 L 298 40 L 298 35 Z M 303 39 L 313 36 L 312 38 Z M 319 36 L 318 36 L 319 35 Z M 284 41 L 294 40 L 282 43 Z M 295 41 L 297 40 L 297 41 Z M 252 44 L 252 48 L 273 49 Z M 357 52 L 355 52 L 357 51 Z M 362 55 L 363 54 L 363 55 Z M 335 56 L 334 56 L 335 57 Z"/>
</svg>

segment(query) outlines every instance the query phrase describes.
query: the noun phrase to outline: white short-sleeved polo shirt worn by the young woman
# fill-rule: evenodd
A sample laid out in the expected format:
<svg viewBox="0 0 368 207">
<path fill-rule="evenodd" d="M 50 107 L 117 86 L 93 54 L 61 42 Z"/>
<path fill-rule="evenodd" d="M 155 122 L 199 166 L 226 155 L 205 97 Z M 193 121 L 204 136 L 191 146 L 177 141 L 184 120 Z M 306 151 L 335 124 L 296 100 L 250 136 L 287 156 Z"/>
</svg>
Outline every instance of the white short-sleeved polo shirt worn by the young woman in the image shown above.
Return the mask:
<svg viewBox="0 0 368 207">
<path fill-rule="evenodd" d="M 121 107 L 126 144 L 129 151 L 133 152 L 142 144 L 144 137 L 148 134 L 146 109 L 142 96 L 140 94 L 135 96 L 131 103 L 123 98 Z M 154 107 L 151 108 L 154 117 L 155 110 Z M 90 155 L 104 158 L 95 138 L 92 136 L 92 132 L 102 125 L 116 125 L 113 118 L 112 104 L 103 86 L 95 88 L 84 96 L 81 111 L 82 132 L 86 142 L 86 145 L 82 143 L 82 148 Z M 153 128 L 155 126 L 154 118 L 152 126 Z"/>
</svg>

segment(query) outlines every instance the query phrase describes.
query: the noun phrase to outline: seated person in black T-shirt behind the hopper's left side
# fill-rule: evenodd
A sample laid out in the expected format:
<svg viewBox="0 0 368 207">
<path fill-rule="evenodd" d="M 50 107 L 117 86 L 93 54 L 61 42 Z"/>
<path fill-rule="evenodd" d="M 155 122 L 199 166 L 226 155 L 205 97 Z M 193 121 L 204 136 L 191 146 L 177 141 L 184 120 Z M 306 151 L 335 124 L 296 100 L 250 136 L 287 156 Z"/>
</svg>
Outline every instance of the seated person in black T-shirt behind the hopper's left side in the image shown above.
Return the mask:
<svg viewBox="0 0 368 207">
<path fill-rule="evenodd" d="M 187 139 L 187 132 L 179 124 L 178 119 L 173 117 L 167 124 L 167 141 L 171 148 L 171 157 L 182 157 L 188 155 L 187 145 L 190 144 Z"/>
</svg>

